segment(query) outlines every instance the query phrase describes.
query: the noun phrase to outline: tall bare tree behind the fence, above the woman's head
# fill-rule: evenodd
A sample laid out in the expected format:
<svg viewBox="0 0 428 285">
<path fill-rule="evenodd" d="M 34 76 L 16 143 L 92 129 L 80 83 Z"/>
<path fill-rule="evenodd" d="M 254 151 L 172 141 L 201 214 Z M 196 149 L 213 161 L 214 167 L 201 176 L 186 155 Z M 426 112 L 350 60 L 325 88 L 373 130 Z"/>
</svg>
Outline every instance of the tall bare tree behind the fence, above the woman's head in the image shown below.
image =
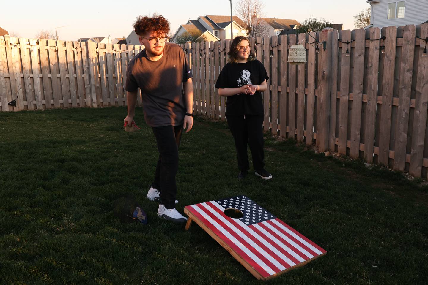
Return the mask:
<svg viewBox="0 0 428 285">
<path fill-rule="evenodd" d="M 235 6 L 235 15 L 244 22 L 247 38 L 268 35 L 270 26 L 262 19 L 265 4 L 260 0 L 241 0 Z"/>
</svg>

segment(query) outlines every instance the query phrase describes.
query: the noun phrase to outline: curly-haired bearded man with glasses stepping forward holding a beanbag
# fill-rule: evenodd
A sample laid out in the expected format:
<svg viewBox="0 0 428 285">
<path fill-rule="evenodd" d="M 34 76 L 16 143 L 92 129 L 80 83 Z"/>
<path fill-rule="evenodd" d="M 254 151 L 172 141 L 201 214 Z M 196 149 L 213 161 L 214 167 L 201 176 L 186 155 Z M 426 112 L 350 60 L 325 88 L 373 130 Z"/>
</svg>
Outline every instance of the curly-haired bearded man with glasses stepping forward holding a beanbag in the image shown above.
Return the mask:
<svg viewBox="0 0 428 285">
<path fill-rule="evenodd" d="M 140 87 L 144 119 L 152 127 L 159 151 L 155 180 L 147 198 L 160 202 L 159 217 L 183 223 L 187 218 L 175 209 L 175 175 L 181 133 L 193 126 L 192 72 L 181 47 L 167 42 L 169 22 L 165 18 L 139 16 L 134 29 L 145 49 L 128 65 L 128 116 L 124 121 L 131 125 L 134 120 Z"/>
</svg>

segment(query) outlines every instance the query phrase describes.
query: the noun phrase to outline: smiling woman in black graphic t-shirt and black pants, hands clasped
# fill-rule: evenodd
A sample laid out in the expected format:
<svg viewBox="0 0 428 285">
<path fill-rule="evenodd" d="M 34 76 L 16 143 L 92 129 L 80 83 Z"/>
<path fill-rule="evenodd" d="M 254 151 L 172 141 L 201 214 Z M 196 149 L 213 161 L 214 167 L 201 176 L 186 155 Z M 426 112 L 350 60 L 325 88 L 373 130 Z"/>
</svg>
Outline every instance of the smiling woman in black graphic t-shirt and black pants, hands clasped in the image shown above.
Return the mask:
<svg viewBox="0 0 428 285">
<path fill-rule="evenodd" d="M 243 36 L 233 39 L 227 60 L 215 87 L 220 96 L 227 97 L 226 120 L 235 139 L 238 179 L 244 179 L 250 169 L 247 145 L 253 157 L 254 173 L 262 179 L 271 179 L 272 175 L 264 168 L 264 109 L 260 93 L 266 91 L 268 73 L 251 52 L 248 38 Z"/>
</svg>

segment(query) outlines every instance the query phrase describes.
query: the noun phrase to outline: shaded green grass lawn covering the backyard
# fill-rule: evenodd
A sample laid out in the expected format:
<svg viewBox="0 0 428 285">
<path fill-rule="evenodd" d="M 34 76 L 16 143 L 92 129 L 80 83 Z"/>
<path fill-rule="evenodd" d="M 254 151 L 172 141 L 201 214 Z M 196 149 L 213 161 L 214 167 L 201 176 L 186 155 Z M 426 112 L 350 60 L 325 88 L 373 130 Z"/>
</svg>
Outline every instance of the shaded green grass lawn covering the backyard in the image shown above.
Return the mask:
<svg viewBox="0 0 428 285">
<path fill-rule="evenodd" d="M 160 220 L 146 200 L 158 151 L 141 109 L 0 113 L 0 284 L 264 284 L 193 223 Z M 327 250 L 268 284 L 427 284 L 428 191 L 420 179 L 265 141 L 273 179 L 238 182 L 223 122 L 184 134 L 177 208 L 246 195 Z M 121 223 L 132 193 L 149 224 Z"/>
</svg>

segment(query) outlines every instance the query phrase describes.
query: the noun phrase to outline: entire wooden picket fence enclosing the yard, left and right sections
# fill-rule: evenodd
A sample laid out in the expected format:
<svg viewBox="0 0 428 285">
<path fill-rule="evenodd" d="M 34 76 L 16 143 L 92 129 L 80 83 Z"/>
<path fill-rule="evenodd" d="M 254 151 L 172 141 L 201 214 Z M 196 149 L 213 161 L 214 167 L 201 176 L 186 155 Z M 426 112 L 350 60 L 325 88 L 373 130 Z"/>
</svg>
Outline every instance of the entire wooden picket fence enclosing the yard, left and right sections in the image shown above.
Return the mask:
<svg viewBox="0 0 428 285">
<path fill-rule="evenodd" d="M 270 76 L 265 131 L 427 177 L 428 24 L 311 35 L 319 53 L 309 35 L 250 38 Z M 289 65 L 290 46 L 304 39 L 308 62 Z M 194 112 L 224 120 L 214 84 L 230 40 L 181 46 L 193 71 Z M 122 71 L 142 49 L 0 37 L 0 109 L 125 106 Z"/>
</svg>

